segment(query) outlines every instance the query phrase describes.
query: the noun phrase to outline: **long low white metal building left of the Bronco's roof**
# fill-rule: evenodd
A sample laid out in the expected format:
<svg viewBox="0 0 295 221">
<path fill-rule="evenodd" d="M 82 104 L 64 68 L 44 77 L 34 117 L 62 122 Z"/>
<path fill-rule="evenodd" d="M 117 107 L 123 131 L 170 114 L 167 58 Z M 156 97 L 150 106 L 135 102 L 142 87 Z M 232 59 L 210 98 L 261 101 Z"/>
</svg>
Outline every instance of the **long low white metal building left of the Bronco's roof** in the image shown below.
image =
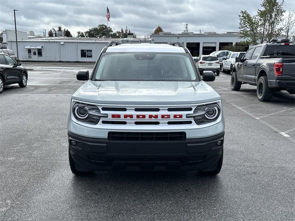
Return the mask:
<svg viewBox="0 0 295 221">
<path fill-rule="evenodd" d="M 110 42 L 151 43 L 151 39 L 46 37 L 18 40 L 19 60 L 95 62 Z M 7 41 L 7 48 L 16 52 L 16 41 Z"/>
</svg>

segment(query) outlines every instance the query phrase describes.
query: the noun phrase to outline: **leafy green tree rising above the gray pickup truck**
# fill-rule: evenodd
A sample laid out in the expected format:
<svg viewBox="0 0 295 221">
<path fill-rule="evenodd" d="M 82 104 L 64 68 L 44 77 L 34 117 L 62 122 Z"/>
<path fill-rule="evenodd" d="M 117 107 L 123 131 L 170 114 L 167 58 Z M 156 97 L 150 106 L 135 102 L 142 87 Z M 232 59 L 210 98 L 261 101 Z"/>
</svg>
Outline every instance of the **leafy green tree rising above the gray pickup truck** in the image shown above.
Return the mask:
<svg viewBox="0 0 295 221">
<path fill-rule="evenodd" d="M 281 34 L 279 27 L 283 20 L 283 3 L 277 0 L 262 0 L 263 9 L 258 9 L 257 14 L 251 16 L 247 11 L 240 11 L 239 29 L 242 37 L 248 38 L 249 44 L 259 44 L 271 41 Z"/>
</svg>

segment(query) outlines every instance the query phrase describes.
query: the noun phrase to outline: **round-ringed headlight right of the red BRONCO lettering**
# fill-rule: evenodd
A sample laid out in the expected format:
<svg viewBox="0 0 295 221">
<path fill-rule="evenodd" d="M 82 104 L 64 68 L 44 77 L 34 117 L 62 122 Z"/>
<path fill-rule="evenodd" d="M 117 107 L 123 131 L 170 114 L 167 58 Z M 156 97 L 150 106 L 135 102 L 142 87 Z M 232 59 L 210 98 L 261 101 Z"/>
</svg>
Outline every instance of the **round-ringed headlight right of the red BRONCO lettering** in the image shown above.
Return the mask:
<svg viewBox="0 0 295 221">
<path fill-rule="evenodd" d="M 187 114 L 186 117 L 194 118 L 196 124 L 201 125 L 205 123 L 211 123 L 216 121 L 220 115 L 219 105 L 214 104 L 205 104 L 197 106 L 193 114 Z"/>
</svg>

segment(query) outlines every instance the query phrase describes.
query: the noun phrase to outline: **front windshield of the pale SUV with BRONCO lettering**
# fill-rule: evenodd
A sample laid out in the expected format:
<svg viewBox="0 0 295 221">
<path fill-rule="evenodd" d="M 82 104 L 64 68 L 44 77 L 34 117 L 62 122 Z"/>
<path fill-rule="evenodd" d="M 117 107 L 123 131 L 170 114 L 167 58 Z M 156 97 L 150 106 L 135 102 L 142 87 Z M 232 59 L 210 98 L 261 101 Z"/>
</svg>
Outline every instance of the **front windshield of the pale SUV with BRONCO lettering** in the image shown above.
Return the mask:
<svg viewBox="0 0 295 221">
<path fill-rule="evenodd" d="M 199 81 L 187 53 L 102 53 L 92 80 Z"/>
</svg>

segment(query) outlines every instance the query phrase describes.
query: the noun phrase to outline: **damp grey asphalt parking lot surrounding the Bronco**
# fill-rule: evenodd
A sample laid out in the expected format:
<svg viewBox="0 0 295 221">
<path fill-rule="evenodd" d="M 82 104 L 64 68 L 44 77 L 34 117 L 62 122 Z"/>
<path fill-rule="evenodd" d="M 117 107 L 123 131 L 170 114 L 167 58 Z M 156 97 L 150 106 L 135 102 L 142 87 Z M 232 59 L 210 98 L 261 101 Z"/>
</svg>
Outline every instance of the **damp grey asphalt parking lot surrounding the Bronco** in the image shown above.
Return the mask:
<svg viewBox="0 0 295 221">
<path fill-rule="evenodd" d="M 24 65 L 26 66 L 26 65 Z M 95 172 L 68 165 L 76 72 L 93 65 L 27 65 L 26 88 L 0 95 L 0 220 L 294 220 L 295 96 L 263 103 L 256 87 L 209 83 L 226 123 L 219 175 L 197 172 Z"/>
</svg>

